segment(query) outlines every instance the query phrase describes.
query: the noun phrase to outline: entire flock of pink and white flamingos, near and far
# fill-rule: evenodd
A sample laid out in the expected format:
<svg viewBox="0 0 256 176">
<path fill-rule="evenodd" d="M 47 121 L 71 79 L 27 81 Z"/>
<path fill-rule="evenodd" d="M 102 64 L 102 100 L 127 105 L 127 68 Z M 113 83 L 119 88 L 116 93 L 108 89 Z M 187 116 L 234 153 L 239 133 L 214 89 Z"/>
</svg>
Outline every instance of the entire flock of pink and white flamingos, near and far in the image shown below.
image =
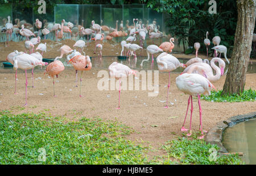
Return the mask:
<svg viewBox="0 0 256 176">
<path fill-rule="evenodd" d="M 6 23 L 6 35 L 11 35 L 13 32 L 13 24 L 10 23 L 10 16 L 8 16 L 9 22 Z M 137 21 L 137 24 L 135 22 Z M 127 54 L 126 57 L 134 56 L 134 60 L 137 60 L 136 51 L 138 49 L 143 49 L 143 40 L 145 40 L 145 37 L 150 31 L 150 38 L 157 38 L 161 35 L 163 35 L 162 32 L 159 31 L 159 27 L 156 26 L 156 22 L 154 21 L 152 24 L 148 24 L 146 27 L 144 24 L 141 24 L 141 22 L 138 24 L 138 19 L 134 19 L 134 26 L 129 26 L 128 31 L 129 36 L 126 40 L 121 41 L 122 45 L 122 52 L 121 56 L 123 54 L 123 49 L 127 48 Z M 68 26 L 64 26 L 65 20 L 63 19 L 61 24 L 55 24 L 52 27 L 52 30 L 55 30 L 55 36 L 56 40 L 61 39 L 63 37 L 63 31 L 70 31 L 71 28 Z M 36 19 L 35 22 L 36 27 L 39 29 L 42 28 L 42 22 L 40 22 L 38 19 Z M 121 31 L 114 30 L 113 32 L 109 32 L 109 35 L 106 36 L 106 38 L 116 37 L 119 35 L 127 36 L 127 33 L 123 31 L 123 28 L 120 26 Z M 60 31 L 58 31 L 60 29 Z M 100 56 L 101 56 L 101 50 L 102 50 L 102 44 L 101 41 L 104 40 L 105 33 L 102 31 L 109 30 L 107 26 L 100 26 L 99 24 L 95 24 L 94 20 L 92 20 L 92 27 L 84 29 L 81 28 L 81 32 L 85 35 L 92 35 L 94 33 L 94 37 L 90 40 L 95 40 L 95 49 L 94 53 L 96 52 L 96 48 L 100 49 Z M 71 32 L 71 31 L 70 31 Z M 58 60 L 59 58 L 62 58 L 63 55 L 67 55 L 67 62 L 73 65 L 73 68 L 76 70 L 76 86 L 77 86 L 77 71 L 81 71 L 81 77 L 80 77 L 80 97 L 81 97 L 81 83 L 82 83 L 82 72 L 86 70 L 92 69 L 92 62 L 90 61 L 90 57 L 85 55 L 85 52 L 83 51 L 83 48 L 86 47 L 86 43 L 84 40 L 78 40 L 76 41 L 75 45 L 73 47 L 79 47 L 80 52 L 76 51 L 75 49 L 70 48 L 67 45 L 63 45 L 60 48 L 61 55 L 59 57 L 56 57 L 55 60 L 51 63 L 43 62 L 43 52 L 46 52 L 46 43 L 40 43 L 40 31 L 38 32 L 38 37 L 35 36 L 35 34 L 30 31 L 28 28 L 24 28 L 24 24 L 22 24 L 22 28 L 19 31 L 20 35 L 23 35 L 27 37 L 27 40 L 25 41 L 24 45 L 27 50 L 30 51 L 30 54 L 27 52 L 18 52 L 14 51 L 11 52 L 6 60 L 11 62 L 11 64 L 14 65 L 14 69 L 16 70 L 15 74 L 15 94 L 16 92 L 16 78 L 17 78 L 17 69 L 23 69 L 25 70 L 26 74 L 26 104 L 27 105 L 27 70 L 32 69 L 32 78 L 33 78 L 33 69 L 35 66 L 46 66 L 46 70 L 44 72 L 49 74 L 49 76 L 53 79 L 53 96 L 55 96 L 55 76 L 58 77 L 61 72 L 65 69 L 63 62 Z M 49 33 L 49 30 L 47 31 L 47 28 L 44 28 L 42 30 L 42 33 L 44 35 L 47 35 Z M 204 40 L 204 44 L 207 47 L 207 56 L 208 56 L 208 46 L 210 45 L 210 40 L 208 39 L 208 32 L 206 34 L 206 39 Z M 138 36 L 137 36 L 138 35 Z M 29 40 L 29 37 L 34 36 L 32 39 Z M 139 40 L 141 41 L 140 45 L 133 43 L 137 37 L 139 37 Z M 206 131 L 203 131 L 202 126 L 202 119 L 201 119 L 201 103 L 200 103 L 200 95 L 210 95 L 210 91 L 212 89 L 215 89 L 213 84 L 211 82 L 217 81 L 220 79 L 220 77 L 224 74 L 225 69 L 225 62 L 220 58 L 221 53 L 224 53 L 224 57 L 226 58 L 226 47 L 224 45 L 220 45 L 220 37 L 215 36 L 212 39 L 212 43 L 215 45 L 212 49 L 214 49 L 214 58 L 212 58 L 209 62 L 209 60 L 202 60 L 201 58 L 197 57 L 197 52 L 200 48 L 200 43 L 195 43 L 194 48 L 196 49 L 196 57 L 191 58 L 187 63 L 182 64 L 180 61 L 173 55 L 169 54 L 172 52 L 172 49 L 174 49 L 174 38 L 170 39 L 170 42 L 166 41 L 159 45 L 148 45 L 146 48 L 147 51 L 147 59 L 143 60 L 141 62 L 141 66 L 143 67 L 144 61 L 150 60 L 150 55 L 152 57 L 151 61 L 151 69 L 153 68 L 154 64 L 154 54 L 160 53 L 156 57 L 156 62 L 158 64 L 158 69 L 161 72 L 168 72 L 169 78 L 168 78 L 168 90 L 167 90 L 167 100 L 166 100 L 166 106 L 164 108 L 168 108 L 168 92 L 170 88 L 170 76 L 171 71 L 175 70 L 179 67 L 184 68 L 183 73 L 181 73 L 178 77 L 176 77 L 176 86 L 180 91 L 183 91 L 183 93 L 188 94 L 188 107 L 187 112 L 185 114 L 185 120 L 187 118 L 188 108 L 189 104 L 191 103 L 191 118 L 190 118 L 190 127 L 189 127 L 189 133 L 187 133 L 187 136 L 191 136 L 191 121 L 192 121 L 192 112 L 193 112 L 193 103 L 192 103 L 192 96 L 198 97 L 198 103 L 200 108 L 200 131 L 201 136 L 199 139 L 204 138 L 204 133 Z M 39 44 L 40 43 L 40 44 Z M 39 44 L 36 50 L 42 51 L 34 52 L 34 45 Z M 82 55 L 81 53 L 84 53 Z M 218 53 L 220 53 L 220 56 L 218 56 Z M 228 59 L 226 58 L 226 61 L 229 63 Z M 216 65 L 216 62 L 218 62 L 218 66 Z M 213 73 L 213 69 L 215 70 L 215 73 Z M 119 79 L 119 102 L 118 102 L 118 108 L 120 108 L 120 94 L 121 94 L 121 78 L 127 77 L 130 74 L 134 74 L 136 76 L 137 71 L 130 69 L 128 66 L 120 64 L 118 62 L 113 62 L 111 65 L 109 65 L 109 73 L 111 77 L 114 77 L 115 79 Z M 34 87 L 34 79 L 32 79 L 32 87 Z M 216 90 L 216 89 L 215 89 Z M 181 131 L 188 131 L 188 129 L 184 128 L 185 120 L 182 125 Z"/>
</svg>

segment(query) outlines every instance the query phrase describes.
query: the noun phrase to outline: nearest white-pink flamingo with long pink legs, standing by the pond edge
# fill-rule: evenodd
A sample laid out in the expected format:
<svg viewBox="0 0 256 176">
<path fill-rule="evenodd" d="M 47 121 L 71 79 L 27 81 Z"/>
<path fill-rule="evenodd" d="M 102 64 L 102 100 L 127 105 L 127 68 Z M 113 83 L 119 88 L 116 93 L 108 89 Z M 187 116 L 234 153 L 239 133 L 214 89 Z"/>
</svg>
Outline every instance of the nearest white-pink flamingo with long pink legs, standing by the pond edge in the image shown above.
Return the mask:
<svg viewBox="0 0 256 176">
<path fill-rule="evenodd" d="M 191 115 L 190 115 L 190 127 L 189 127 L 189 133 L 187 136 L 192 135 L 191 131 L 191 122 L 192 122 L 192 112 L 193 112 L 193 101 L 192 101 L 192 96 L 195 96 L 198 98 L 198 104 L 199 104 L 199 114 L 200 114 L 200 130 L 201 130 L 201 136 L 199 139 L 204 138 L 204 132 L 203 131 L 203 125 L 202 125 L 202 109 L 201 109 L 201 103 L 200 103 L 200 96 L 201 94 L 204 95 L 210 95 L 210 90 L 216 89 L 210 81 L 201 76 L 200 74 L 188 74 L 188 73 L 181 73 L 180 76 L 176 78 L 176 86 L 180 91 L 183 91 L 183 93 L 188 94 L 188 106 L 189 106 L 189 101 L 191 101 Z M 185 120 L 187 118 L 188 114 L 188 107 L 187 107 L 187 112 L 185 115 Z M 185 120 L 182 125 L 181 131 L 188 131 L 188 129 L 184 128 L 185 125 Z"/>
</svg>

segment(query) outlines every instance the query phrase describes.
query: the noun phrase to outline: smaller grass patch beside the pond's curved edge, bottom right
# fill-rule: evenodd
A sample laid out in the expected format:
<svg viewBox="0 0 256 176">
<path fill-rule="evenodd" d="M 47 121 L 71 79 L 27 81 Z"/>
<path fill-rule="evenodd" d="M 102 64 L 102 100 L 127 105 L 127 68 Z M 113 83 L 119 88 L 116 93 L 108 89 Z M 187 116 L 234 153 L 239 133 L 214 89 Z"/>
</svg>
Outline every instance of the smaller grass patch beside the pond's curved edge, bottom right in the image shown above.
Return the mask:
<svg viewBox="0 0 256 176">
<path fill-rule="evenodd" d="M 188 140 L 185 137 L 168 141 L 162 148 L 170 157 L 176 158 L 182 164 L 203 165 L 238 165 L 244 164 L 238 155 L 220 156 L 217 145 L 207 144 L 204 140 Z"/>
</svg>

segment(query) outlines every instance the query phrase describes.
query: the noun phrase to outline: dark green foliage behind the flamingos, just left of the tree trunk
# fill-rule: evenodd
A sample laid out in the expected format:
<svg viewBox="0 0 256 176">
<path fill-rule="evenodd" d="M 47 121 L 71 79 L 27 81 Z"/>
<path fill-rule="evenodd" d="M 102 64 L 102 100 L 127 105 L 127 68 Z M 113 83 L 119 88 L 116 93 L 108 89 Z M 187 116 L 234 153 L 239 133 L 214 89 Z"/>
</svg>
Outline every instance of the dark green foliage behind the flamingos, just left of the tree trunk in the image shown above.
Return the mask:
<svg viewBox="0 0 256 176">
<path fill-rule="evenodd" d="M 179 39 L 178 44 L 187 45 L 200 42 L 200 52 L 206 52 L 204 39 L 209 31 L 209 39 L 221 37 L 221 43 L 230 48 L 236 32 L 237 10 L 232 0 L 218 1 L 217 14 L 209 14 L 208 0 L 143 0 L 147 6 L 166 13 L 166 25 L 170 33 Z M 210 45 L 210 47 L 212 47 Z M 209 50 L 209 52 L 212 52 Z M 228 52 L 228 56 L 232 51 Z M 213 53 L 213 52 L 212 52 Z"/>
</svg>

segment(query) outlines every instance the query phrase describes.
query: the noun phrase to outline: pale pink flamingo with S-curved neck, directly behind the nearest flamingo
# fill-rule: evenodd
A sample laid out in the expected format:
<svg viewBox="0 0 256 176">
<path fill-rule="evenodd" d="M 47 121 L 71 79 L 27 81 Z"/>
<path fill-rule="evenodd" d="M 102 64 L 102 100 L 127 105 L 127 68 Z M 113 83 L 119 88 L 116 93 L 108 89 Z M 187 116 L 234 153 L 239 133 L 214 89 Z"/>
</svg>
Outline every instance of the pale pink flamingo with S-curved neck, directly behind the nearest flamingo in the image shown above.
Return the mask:
<svg viewBox="0 0 256 176">
<path fill-rule="evenodd" d="M 215 63 L 218 62 L 218 65 L 215 65 Z M 216 74 L 213 74 L 213 70 L 215 70 Z M 218 81 L 220 77 L 224 74 L 225 69 L 225 62 L 219 58 L 214 57 L 212 60 L 210 60 L 210 65 L 203 63 L 203 62 L 197 62 L 195 64 L 189 65 L 187 68 L 184 69 L 183 73 L 197 73 L 201 74 L 205 78 L 207 78 L 209 81 Z"/>
</svg>

